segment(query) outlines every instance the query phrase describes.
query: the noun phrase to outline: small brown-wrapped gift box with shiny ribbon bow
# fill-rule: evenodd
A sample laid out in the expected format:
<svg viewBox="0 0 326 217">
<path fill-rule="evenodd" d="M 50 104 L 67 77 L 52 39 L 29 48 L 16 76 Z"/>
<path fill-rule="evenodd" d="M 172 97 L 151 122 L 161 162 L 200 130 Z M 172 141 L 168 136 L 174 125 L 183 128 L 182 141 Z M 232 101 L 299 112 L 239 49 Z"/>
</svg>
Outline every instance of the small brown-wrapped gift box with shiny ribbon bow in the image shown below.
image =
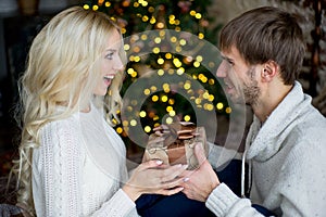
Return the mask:
<svg viewBox="0 0 326 217">
<path fill-rule="evenodd" d="M 198 167 L 195 145 L 202 145 L 208 153 L 206 136 L 203 127 L 193 123 L 179 122 L 161 125 L 150 135 L 145 151 L 145 159 L 162 159 L 166 165 L 187 164 L 187 169 Z"/>
</svg>

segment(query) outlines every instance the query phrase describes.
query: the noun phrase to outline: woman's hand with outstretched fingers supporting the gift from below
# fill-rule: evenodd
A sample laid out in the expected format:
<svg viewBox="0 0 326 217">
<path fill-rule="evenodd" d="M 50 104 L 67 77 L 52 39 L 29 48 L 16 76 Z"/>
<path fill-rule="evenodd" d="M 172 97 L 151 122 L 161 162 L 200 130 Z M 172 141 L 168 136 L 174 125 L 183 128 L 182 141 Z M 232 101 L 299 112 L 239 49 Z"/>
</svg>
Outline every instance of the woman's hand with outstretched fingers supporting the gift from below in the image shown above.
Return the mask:
<svg viewBox="0 0 326 217">
<path fill-rule="evenodd" d="M 160 159 L 151 159 L 140 164 L 133 173 L 130 179 L 123 187 L 125 193 L 136 201 L 143 193 L 172 195 L 180 192 L 184 182 L 179 177 L 187 165 L 163 165 Z"/>
</svg>

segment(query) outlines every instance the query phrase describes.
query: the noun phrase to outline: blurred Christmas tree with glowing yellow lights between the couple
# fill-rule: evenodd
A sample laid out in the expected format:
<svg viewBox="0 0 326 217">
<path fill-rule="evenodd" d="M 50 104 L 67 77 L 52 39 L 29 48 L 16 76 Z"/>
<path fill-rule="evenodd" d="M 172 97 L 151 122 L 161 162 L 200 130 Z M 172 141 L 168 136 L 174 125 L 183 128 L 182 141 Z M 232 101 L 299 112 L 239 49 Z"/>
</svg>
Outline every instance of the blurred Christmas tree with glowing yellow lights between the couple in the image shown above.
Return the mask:
<svg viewBox="0 0 326 217">
<path fill-rule="evenodd" d="M 218 26 L 209 28 L 210 4 L 208 0 L 85 1 L 85 9 L 115 20 L 125 37 L 124 107 L 115 129 L 127 144 L 143 146 L 161 124 L 213 122 L 214 126 L 217 115 L 230 114 L 215 77 Z"/>
</svg>

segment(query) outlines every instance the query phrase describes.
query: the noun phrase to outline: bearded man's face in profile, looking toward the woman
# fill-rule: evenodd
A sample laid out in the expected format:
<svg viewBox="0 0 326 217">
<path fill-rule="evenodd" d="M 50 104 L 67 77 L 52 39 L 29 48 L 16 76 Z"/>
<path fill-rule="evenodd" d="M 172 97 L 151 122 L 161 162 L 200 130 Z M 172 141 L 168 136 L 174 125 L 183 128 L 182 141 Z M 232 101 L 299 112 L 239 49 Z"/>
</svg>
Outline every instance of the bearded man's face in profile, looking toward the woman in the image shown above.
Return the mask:
<svg viewBox="0 0 326 217">
<path fill-rule="evenodd" d="M 261 92 L 258 81 L 260 66 L 248 65 L 235 47 L 221 53 L 223 61 L 216 76 L 223 78 L 225 92 L 235 103 L 255 104 Z"/>
</svg>

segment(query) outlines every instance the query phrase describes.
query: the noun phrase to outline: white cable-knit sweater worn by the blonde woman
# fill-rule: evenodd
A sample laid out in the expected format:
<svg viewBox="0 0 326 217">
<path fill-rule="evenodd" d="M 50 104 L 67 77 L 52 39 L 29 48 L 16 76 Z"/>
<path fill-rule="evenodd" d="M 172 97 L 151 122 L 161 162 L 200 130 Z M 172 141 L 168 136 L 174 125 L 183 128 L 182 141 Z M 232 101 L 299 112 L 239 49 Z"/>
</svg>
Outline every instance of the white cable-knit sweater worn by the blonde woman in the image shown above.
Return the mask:
<svg viewBox="0 0 326 217">
<path fill-rule="evenodd" d="M 120 189 L 127 178 L 123 141 L 91 106 L 47 124 L 33 152 L 33 196 L 42 216 L 138 216 Z"/>
</svg>

